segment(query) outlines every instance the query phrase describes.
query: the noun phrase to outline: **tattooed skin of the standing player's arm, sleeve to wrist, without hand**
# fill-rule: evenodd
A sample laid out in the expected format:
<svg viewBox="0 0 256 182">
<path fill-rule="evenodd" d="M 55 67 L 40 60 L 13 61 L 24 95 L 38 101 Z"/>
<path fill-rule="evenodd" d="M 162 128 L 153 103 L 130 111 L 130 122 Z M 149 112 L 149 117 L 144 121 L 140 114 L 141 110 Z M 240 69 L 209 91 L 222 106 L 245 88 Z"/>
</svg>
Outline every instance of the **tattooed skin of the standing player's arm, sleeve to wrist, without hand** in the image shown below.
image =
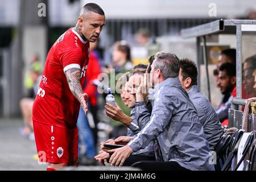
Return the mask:
<svg viewBox="0 0 256 182">
<path fill-rule="evenodd" d="M 73 95 L 81 102 L 81 95 L 84 93 L 80 84 L 81 70 L 79 68 L 71 68 L 65 72 L 69 89 Z"/>
</svg>

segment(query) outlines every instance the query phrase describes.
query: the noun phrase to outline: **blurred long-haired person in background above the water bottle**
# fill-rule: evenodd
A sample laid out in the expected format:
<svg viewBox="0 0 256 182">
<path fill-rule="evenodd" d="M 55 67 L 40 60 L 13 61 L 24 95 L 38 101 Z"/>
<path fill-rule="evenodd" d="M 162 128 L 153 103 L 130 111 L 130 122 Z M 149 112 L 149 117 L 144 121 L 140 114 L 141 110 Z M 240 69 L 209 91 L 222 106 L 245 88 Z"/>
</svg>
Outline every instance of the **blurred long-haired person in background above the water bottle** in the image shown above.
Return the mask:
<svg viewBox="0 0 256 182">
<path fill-rule="evenodd" d="M 130 109 L 127 107 L 122 99 L 120 94 L 115 93 L 115 88 L 117 85 L 116 81 L 121 77 L 122 74 L 119 73 L 126 73 L 133 69 L 133 64 L 131 63 L 131 53 L 130 53 L 130 46 L 127 44 L 126 41 L 122 40 L 120 42 L 116 42 L 113 46 L 112 52 L 112 65 L 109 65 L 108 68 L 103 68 L 102 71 L 104 73 L 109 74 L 109 83 L 110 88 L 112 90 L 113 96 L 115 97 L 115 102 L 117 105 L 123 110 L 126 115 L 130 116 Z M 113 68 L 113 69 L 111 69 Z M 112 84 L 114 83 L 114 84 Z M 110 119 L 110 123 L 113 126 L 113 132 L 110 138 L 117 138 L 119 136 L 126 135 L 127 128 L 126 126 L 122 125 L 122 123 L 115 121 L 114 119 Z"/>
</svg>

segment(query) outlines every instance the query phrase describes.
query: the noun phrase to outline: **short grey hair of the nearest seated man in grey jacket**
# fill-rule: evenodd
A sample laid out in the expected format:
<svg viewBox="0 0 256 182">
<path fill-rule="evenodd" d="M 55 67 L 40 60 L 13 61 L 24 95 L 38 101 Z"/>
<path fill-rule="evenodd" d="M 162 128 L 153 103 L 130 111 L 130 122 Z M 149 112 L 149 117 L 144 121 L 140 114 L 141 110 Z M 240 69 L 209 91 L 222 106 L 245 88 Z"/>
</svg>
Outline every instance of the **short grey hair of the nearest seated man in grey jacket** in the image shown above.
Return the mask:
<svg viewBox="0 0 256 182">
<path fill-rule="evenodd" d="M 179 76 L 179 58 L 171 52 L 160 51 L 154 57 L 154 70 L 160 69 L 163 79 L 175 78 Z"/>
</svg>

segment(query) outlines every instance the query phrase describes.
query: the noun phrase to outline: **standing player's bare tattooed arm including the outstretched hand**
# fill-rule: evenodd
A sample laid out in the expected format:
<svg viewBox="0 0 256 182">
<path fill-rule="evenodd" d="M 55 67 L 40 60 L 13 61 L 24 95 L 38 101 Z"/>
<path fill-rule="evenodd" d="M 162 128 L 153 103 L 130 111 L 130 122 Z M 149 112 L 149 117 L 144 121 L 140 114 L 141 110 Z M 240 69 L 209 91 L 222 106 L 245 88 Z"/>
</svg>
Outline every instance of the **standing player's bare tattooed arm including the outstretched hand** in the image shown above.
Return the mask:
<svg viewBox="0 0 256 182">
<path fill-rule="evenodd" d="M 81 78 L 81 70 L 79 68 L 71 68 L 65 72 L 67 77 L 69 89 L 73 93 L 73 95 L 79 100 L 82 109 L 84 109 L 85 113 L 87 114 L 87 100 L 88 96 L 86 93 L 82 91 L 82 86 L 80 84 Z"/>
</svg>

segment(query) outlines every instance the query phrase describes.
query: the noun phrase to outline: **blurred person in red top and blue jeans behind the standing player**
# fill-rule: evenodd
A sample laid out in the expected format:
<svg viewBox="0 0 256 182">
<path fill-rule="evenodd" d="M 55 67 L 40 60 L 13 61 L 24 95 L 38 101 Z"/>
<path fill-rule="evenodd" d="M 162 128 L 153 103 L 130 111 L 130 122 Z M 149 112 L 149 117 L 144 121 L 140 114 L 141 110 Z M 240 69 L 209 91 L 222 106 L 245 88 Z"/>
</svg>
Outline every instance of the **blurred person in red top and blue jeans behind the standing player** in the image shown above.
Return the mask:
<svg viewBox="0 0 256 182">
<path fill-rule="evenodd" d="M 96 164 L 94 156 L 96 155 L 96 144 L 98 139 L 97 130 L 97 87 L 93 81 L 97 79 L 100 74 L 100 63 L 94 49 L 97 47 L 97 41 L 90 42 L 90 57 L 88 68 L 86 72 L 86 80 L 84 85 L 84 92 L 88 94 L 88 115 L 93 115 L 93 127 L 89 125 L 88 115 L 85 114 L 82 107 L 80 107 L 79 118 L 77 119 L 77 127 L 79 129 L 79 157 L 80 164 L 89 166 Z M 81 144 L 85 145 L 85 155 L 81 154 Z"/>
</svg>

